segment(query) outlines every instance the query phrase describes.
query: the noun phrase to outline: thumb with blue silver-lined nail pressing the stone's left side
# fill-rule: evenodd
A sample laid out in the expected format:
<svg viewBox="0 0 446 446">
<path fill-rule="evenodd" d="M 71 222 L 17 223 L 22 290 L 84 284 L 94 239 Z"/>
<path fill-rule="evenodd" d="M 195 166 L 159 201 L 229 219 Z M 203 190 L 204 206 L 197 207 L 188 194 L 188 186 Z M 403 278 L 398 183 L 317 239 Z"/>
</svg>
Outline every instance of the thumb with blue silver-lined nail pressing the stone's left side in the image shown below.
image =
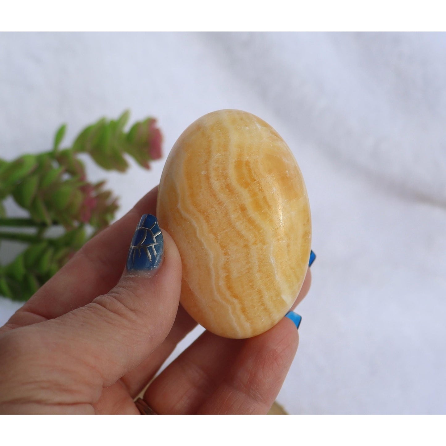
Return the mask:
<svg viewBox="0 0 446 446">
<path fill-rule="evenodd" d="M 99 372 L 108 386 L 164 341 L 177 314 L 180 291 L 178 249 L 156 217 L 146 214 L 136 227 L 118 284 L 42 328 L 57 338 L 55 348 Z"/>
</svg>

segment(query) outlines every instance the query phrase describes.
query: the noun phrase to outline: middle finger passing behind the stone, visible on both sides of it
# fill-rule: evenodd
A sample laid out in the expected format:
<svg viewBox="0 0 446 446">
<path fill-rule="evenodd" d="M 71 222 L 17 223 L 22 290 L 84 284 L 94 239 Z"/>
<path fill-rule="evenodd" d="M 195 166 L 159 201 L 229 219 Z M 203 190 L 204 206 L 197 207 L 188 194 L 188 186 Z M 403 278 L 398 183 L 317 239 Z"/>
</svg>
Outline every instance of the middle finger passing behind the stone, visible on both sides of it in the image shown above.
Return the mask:
<svg viewBox="0 0 446 446">
<path fill-rule="evenodd" d="M 291 310 L 296 308 L 296 306 L 307 295 L 310 286 L 311 273 L 309 268 L 301 291 L 297 296 L 296 301 L 294 301 Z M 189 314 L 186 313 L 186 310 L 180 306 L 172 331 L 169 333 L 169 336 L 165 342 L 156 351 L 154 351 L 144 363 L 140 364 L 140 366 L 130 372 L 127 376 L 124 376 L 122 379 L 132 396 L 139 395 L 141 390 L 153 378 L 157 370 L 172 353 L 176 345 L 187 335 L 187 333 L 190 332 L 190 330 L 193 330 L 196 325 L 197 323 L 189 316 Z"/>
</svg>

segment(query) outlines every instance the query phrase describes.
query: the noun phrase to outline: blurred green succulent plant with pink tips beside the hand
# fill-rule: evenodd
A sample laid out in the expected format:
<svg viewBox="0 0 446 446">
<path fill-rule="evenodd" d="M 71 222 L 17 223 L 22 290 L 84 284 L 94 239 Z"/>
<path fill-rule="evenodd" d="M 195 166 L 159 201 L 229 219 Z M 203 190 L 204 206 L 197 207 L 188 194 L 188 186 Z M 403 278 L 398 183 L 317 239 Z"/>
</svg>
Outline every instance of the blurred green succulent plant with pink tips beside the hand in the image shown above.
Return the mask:
<svg viewBox="0 0 446 446">
<path fill-rule="evenodd" d="M 25 301 L 52 277 L 88 239 L 114 219 L 117 197 L 105 181 L 87 180 L 79 158 L 87 153 L 106 170 L 125 172 L 126 155 L 148 169 L 161 158 L 161 131 L 154 118 L 138 121 L 125 131 L 129 112 L 117 120 L 102 118 L 83 129 L 70 147 L 61 148 L 66 125 L 58 128 L 53 148 L 12 161 L 0 158 L 1 240 L 28 244 L 12 262 L 0 265 L 0 294 Z M 29 216 L 6 215 L 3 201 L 12 197 Z M 58 237 L 47 236 L 53 226 Z M 22 228 L 34 228 L 32 234 Z M 89 229 L 89 231 L 87 231 Z"/>
</svg>

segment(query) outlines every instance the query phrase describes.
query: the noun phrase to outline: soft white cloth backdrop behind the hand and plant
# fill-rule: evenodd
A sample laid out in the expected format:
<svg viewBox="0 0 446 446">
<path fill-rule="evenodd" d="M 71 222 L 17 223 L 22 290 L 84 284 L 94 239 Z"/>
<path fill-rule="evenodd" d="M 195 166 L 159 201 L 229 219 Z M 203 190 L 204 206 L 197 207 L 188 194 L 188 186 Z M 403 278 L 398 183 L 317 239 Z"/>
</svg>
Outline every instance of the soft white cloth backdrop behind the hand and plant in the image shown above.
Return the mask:
<svg viewBox="0 0 446 446">
<path fill-rule="evenodd" d="M 126 108 L 159 118 L 165 155 L 222 108 L 260 116 L 293 150 L 318 258 L 285 409 L 446 413 L 446 34 L 0 34 L 1 157 Z M 122 215 L 163 164 L 88 168 Z M 0 298 L 0 323 L 17 308 Z"/>
</svg>

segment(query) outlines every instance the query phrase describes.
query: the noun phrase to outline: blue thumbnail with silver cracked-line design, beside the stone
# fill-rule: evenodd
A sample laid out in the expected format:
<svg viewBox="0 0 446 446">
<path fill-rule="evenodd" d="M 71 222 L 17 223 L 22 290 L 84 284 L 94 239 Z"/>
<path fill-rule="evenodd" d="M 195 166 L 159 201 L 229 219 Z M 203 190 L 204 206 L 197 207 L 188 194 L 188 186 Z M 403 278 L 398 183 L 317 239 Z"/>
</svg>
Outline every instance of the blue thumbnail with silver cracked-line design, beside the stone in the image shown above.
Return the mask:
<svg viewBox="0 0 446 446">
<path fill-rule="evenodd" d="M 160 266 L 164 241 L 158 220 L 154 215 L 141 217 L 128 250 L 128 271 L 153 270 Z"/>
</svg>

